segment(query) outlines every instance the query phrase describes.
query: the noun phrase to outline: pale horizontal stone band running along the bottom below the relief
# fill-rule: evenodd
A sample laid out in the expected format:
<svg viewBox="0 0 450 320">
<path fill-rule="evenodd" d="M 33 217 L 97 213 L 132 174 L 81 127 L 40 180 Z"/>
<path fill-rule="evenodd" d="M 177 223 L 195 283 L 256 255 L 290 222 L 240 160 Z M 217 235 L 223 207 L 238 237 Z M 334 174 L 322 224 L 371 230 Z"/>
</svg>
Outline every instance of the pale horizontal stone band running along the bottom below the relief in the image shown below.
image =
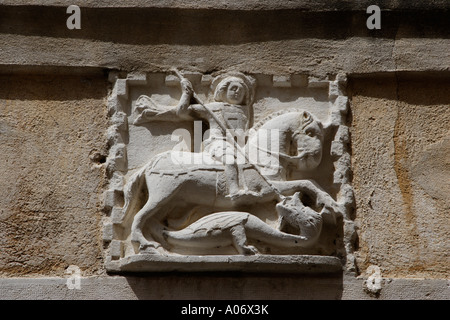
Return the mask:
<svg viewBox="0 0 450 320">
<path fill-rule="evenodd" d="M 133 277 L 105 276 L 80 279 L 80 289 L 69 289 L 65 278 L 0 279 L 7 299 L 54 299 L 54 300 L 155 300 L 159 307 L 178 315 L 179 309 L 165 301 L 184 300 L 201 303 L 201 300 L 296 300 L 288 304 L 295 312 L 298 300 L 448 300 L 450 293 L 446 280 L 384 279 L 378 297 L 364 291 L 363 279 L 353 276 L 311 276 L 287 274 L 170 274 L 166 276 Z M 255 301 L 256 302 L 256 301 Z M 236 301 L 236 303 L 239 303 Z M 306 302 L 309 303 L 309 302 Z M 320 302 L 322 303 L 322 302 Z M 268 302 L 268 304 L 271 304 Z M 167 304 L 166 304 L 167 305 Z M 117 310 L 111 308 L 111 312 Z M 104 311 L 104 310 L 102 310 Z M 158 310 L 159 311 L 159 310 Z M 333 310 L 334 312 L 334 310 Z M 274 311 L 271 315 L 279 317 Z"/>
</svg>

